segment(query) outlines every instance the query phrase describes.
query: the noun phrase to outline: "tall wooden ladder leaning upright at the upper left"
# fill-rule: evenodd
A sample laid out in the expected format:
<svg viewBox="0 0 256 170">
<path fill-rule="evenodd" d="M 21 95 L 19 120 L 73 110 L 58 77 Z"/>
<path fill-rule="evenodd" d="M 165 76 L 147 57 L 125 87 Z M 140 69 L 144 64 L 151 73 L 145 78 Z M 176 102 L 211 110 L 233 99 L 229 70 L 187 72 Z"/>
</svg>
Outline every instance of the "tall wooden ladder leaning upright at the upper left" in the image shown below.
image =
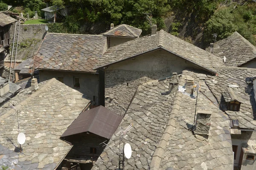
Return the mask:
<svg viewBox="0 0 256 170">
<path fill-rule="evenodd" d="M 20 32 L 20 20 L 15 23 L 14 37 L 13 37 L 13 43 L 12 43 L 12 57 L 11 57 L 10 73 L 9 73 L 9 81 L 10 82 L 14 82 L 14 80 L 15 80 L 14 68 L 15 68 L 15 64 L 16 64 L 16 57 L 17 57 L 17 51 L 18 51 L 19 32 Z M 14 62 L 13 68 L 12 68 L 12 62 Z M 13 73 L 13 75 L 11 77 L 12 73 Z"/>
</svg>

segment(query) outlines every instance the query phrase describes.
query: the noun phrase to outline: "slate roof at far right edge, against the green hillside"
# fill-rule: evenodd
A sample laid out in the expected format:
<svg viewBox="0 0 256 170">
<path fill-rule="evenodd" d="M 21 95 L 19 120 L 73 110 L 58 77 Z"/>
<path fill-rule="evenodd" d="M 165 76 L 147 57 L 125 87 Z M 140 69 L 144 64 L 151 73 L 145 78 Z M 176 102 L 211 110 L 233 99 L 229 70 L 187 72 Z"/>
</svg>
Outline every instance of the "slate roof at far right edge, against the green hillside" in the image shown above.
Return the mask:
<svg viewBox="0 0 256 170">
<path fill-rule="evenodd" d="M 209 47 L 206 49 L 209 51 Z M 227 66 L 241 66 L 256 58 L 256 47 L 242 37 L 238 32 L 214 43 L 213 54 L 221 58 L 227 57 L 224 63 Z"/>
</svg>

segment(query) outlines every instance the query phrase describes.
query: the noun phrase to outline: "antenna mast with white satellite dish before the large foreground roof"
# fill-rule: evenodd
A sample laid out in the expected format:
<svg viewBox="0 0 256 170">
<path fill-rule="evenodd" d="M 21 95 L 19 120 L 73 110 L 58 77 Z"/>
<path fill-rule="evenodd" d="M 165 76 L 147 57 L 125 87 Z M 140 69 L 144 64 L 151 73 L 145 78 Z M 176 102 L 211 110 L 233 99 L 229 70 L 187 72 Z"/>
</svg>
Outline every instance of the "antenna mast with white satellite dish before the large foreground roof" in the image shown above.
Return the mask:
<svg viewBox="0 0 256 170">
<path fill-rule="evenodd" d="M 103 144 L 102 147 L 107 146 L 109 148 L 111 148 L 111 150 L 113 151 L 113 153 L 116 153 L 117 156 L 119 156 L 119 170 L 123 170 L 124 169 L 124 161 L 125 158 L 130 159 L 131 158 L 131 145 L 126 143 L 125 145 L 123 145 L 123 148 L 121 149 L 121 138 L 128 133 L 128 131 L 131 130 L 131 128 L 133 127 L 133 124 L 131 123 L 128 127 L 125 128 L 125 130 L 117 130 L 118 133 L 117 135 L 119 135 L 119 148 L 115 147 L 115 146 L 111 146 L 111 144 L 108 144 L 107 141 L 104 141 L 100 144 Z M 121 127 L 122 129 L 122 127 Z M 140 155 L 137 155 L 140 158 Z"/>
</svg>

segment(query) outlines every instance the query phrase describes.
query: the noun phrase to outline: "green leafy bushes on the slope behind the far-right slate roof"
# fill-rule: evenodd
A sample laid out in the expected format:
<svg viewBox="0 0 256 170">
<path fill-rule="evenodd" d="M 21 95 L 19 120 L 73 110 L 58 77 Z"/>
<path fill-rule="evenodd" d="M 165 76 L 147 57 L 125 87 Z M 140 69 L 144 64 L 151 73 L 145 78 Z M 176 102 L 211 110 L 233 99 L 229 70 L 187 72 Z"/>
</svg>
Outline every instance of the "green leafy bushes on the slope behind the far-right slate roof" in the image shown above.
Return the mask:
<svg viewBox="0 0 256 170">
<path fill-rule="evenodd" d="M 244 38 L 256 45 L 253 35 L 256 34 L 256 5 L 233 6 L 221 8 L 206 22 L 204 36 L 210 42 L 211 34 L 217 33 L 218 39 L 223 39 L 237 31 Z"/>
</svg>

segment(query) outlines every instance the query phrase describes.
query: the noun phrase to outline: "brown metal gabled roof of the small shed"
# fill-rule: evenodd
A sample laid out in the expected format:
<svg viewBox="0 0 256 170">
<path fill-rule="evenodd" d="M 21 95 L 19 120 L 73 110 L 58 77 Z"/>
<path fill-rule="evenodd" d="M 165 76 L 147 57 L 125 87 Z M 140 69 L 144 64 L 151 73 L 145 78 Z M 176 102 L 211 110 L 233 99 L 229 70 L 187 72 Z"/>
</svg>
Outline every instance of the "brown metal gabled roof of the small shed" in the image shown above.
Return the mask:
<svg viewBox="0 0 256 170">
<path fill-rule="evenodd" d="M 122 121 L 122 116 L 103 106 L 82 112 L 61 137 L 90 132 L 111 139 Z"/>
</svg>

